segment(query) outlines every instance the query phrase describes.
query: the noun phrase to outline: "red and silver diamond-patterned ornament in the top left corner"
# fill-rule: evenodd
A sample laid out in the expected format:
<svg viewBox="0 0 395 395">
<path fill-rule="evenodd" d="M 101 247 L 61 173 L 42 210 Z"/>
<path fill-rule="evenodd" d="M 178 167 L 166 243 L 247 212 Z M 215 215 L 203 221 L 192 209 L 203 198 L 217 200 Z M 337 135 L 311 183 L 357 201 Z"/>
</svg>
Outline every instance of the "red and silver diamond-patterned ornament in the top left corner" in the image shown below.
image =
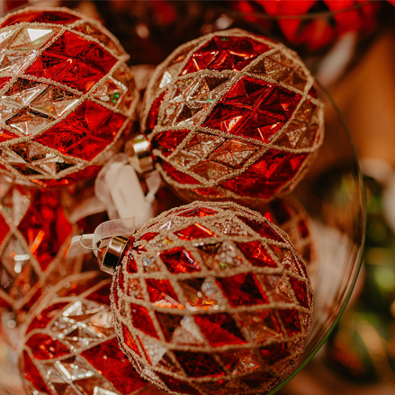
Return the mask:
<svg viewBox="0 0 395 395">
<path fill-rule="evenodd" d="M 138 93 L 109 31 L 66 8 L 0 21 L 0 172 L 59 186 L 97 174 L 130 130 Z"/>
</svg>

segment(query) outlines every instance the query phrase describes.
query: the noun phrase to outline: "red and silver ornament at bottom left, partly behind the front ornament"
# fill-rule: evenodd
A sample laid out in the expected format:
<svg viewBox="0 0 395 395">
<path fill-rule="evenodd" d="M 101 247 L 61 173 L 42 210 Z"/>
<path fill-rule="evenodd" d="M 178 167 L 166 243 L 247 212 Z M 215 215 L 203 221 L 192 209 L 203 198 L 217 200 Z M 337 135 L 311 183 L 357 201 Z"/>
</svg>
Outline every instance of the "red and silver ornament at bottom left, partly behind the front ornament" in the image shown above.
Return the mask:
<svg viewBox="0 0 395 395">
<path fill-rule="evenodd" d="M 67 277 L 31 313 L 22 339 L 26 394 L 160 395 L 118 346 L 110 312 L 111 279 Z"/>
</svg>

